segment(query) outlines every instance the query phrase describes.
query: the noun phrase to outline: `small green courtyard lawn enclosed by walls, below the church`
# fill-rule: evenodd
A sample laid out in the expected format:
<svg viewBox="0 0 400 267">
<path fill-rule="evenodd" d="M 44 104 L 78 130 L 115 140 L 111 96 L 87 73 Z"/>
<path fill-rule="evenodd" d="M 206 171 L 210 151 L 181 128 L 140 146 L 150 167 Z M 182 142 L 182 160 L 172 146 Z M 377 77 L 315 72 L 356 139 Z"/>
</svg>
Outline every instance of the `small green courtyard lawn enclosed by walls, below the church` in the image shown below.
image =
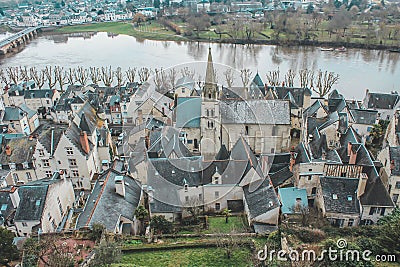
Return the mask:
<svg viewBox="0 0 400 267">
<path fill-rule="evenodd" d="M 209 217 L 208 229 L 204 233 L 230 233 L 232 230 L 236 232 L 247 232 L 247 227 L 242 217 L 229 217 L 228 223 L 225 223 L 225 217 Z"/>
</svg>

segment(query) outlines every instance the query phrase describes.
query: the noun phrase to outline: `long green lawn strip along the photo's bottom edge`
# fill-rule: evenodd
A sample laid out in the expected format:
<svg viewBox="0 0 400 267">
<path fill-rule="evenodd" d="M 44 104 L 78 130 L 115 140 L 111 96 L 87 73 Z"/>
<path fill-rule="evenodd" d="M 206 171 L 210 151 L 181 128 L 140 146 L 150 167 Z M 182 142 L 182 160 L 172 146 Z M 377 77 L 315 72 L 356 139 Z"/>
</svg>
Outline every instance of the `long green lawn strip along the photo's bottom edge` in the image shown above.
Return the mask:
<svg viewBox="0 0 400 267">
<path fill-rule="evenodd" d="M 218 248 L 175 249 L 127 253 L 113 267 L 127 266 L 251 266 L 251 252 L 247 248 L 236 250 L 228 259 Z"/>
</svg>

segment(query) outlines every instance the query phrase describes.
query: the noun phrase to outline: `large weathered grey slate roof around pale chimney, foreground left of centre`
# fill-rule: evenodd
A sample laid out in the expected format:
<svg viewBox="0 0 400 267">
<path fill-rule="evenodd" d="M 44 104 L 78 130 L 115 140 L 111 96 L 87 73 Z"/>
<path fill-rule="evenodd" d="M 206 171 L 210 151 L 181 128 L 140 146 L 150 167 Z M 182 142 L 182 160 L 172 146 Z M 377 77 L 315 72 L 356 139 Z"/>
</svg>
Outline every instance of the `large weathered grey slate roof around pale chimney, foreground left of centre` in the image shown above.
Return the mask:
<svg viewBox="0 0 400 267">
<path fill-rule="evenodd" d="M 125 197 L 115 192 L 115 177 L 123 176 Z M 114 232 L 120 216 L 133 219 L 141 198 L 141 184 L 130 176 L 114 169 L 102 173 L 93 187 L 83 212 L 79 215 L 77 228 L 103 224 L 108 231 Z"/>
</svg>

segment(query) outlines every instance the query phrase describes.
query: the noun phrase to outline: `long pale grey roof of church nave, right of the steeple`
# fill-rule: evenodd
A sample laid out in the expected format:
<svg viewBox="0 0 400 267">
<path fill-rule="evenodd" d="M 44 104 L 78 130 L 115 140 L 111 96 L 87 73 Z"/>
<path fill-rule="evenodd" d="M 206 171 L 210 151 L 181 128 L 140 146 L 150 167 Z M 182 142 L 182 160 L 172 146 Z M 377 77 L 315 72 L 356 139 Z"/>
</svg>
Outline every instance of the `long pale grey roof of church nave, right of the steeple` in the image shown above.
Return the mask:
<svg viewBox="0 0 400 267">
<path fill-rule="evenodd" d="M 286 100 L 222 100 L 219 106 L 223 124 L 290 124 L 290 106 Z"/>
</svg>

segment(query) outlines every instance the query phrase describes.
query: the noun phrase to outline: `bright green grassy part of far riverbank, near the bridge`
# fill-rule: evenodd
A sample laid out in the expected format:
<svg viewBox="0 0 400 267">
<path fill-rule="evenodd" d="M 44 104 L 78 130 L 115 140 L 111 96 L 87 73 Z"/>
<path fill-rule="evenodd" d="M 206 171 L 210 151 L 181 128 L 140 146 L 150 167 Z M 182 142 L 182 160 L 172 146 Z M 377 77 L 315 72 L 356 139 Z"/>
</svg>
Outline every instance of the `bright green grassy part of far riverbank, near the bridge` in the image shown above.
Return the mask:
<svg viewBox="0 0 400 267">
<path fill-rule="evenodd" d="M 54 30 L 54 33 L 75 33 L 75 32 L 110 32 L 125 34 L 141 39 L 183 41 L 186 38 L 175 35 L 172 31 L 164 29 L 158 23 L 143 24 L 134 27 L 127 22 L 103 22 L 84 25 L 64 26 Z"/>
</svg>

